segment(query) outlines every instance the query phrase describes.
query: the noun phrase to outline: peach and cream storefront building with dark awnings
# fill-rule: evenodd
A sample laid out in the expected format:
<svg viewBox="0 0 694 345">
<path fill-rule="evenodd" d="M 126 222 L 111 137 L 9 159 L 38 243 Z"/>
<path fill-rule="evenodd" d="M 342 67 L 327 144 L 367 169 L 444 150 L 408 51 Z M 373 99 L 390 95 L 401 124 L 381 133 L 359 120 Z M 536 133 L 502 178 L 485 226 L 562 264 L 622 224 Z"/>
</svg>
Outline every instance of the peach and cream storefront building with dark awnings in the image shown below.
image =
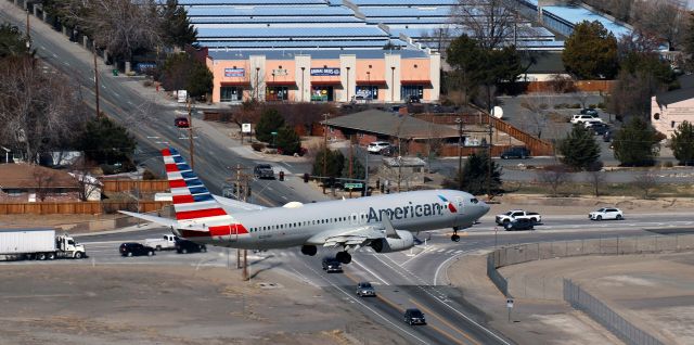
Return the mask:
<svg viewBox="0 0 694 345">
<path fill-rule="evenodd" d="M 425 50 L 209 51 L 213 102 L 438 101 L 438 53 Z"/>
</svg>

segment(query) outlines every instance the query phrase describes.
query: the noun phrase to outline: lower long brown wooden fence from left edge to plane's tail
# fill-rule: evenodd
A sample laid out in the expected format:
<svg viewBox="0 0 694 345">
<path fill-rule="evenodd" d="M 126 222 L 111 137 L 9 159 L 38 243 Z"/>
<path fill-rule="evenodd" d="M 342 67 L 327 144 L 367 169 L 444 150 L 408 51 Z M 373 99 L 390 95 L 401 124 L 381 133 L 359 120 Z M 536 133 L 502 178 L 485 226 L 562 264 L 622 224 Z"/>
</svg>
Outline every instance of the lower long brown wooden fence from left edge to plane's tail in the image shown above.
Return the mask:
<svg viewBox="0 0 694 345">
<path fill-rule="evenodd" d="M 0 203 L 0 215 L 98 215 L 118 210 L 156 212 L 170 202 L 61 202 L 61 203 Z"/>
</svg>

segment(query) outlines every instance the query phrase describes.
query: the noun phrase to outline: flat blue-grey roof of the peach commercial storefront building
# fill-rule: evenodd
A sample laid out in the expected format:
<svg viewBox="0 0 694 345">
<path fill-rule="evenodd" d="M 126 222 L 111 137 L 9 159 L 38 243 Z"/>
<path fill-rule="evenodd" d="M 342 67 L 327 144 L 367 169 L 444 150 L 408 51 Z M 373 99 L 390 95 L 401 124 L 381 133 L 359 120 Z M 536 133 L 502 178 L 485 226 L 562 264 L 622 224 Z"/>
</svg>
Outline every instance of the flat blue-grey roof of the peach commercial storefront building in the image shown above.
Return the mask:
<svg viewBox="0 0 694 345">
<path fill-rule="evenodd" d="M 339 59 L 339 55 L 356 55 L 357 59 L 383 59 L 386 54 L 400 55 L 402 59 L 428 59 L 421 50 L 309 50 L 296 51 L 221 51 L 210 50 L 208 55 L 213 60 L 247 60 L 250 55 L 265 55 L 267 60 L 292 60 L 297 55 L 310 55 L 311 59 Z"/>
</svg>

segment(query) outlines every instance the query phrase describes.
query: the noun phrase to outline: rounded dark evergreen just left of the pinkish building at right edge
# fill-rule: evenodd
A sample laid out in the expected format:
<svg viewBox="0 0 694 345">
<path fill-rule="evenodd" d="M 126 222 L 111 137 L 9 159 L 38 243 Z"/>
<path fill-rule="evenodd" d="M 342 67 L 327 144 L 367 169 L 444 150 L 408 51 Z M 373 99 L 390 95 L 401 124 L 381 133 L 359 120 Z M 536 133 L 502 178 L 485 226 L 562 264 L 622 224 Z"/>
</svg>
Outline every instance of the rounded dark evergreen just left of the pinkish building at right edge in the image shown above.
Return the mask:
<svg viewBox="0 0 694 345">
<path fill-rule="evenodd" d="M 633 117 L 617 131 L 613 146 L 624 166 L 653 165 L 660 149 L 655 130 L 641 117 Z"/>
</svg>

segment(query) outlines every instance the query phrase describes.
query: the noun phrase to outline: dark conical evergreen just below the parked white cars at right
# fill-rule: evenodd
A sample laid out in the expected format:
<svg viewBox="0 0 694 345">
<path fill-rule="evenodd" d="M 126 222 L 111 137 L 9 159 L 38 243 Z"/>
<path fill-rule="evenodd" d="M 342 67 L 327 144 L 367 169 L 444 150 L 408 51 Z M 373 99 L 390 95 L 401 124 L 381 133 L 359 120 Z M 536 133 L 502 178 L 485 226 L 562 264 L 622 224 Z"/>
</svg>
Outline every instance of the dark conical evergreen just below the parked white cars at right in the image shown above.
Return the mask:
<svg viewBox="0 0 694 345">
<path fill-rule="evenodd" d="M 600 159 L 600 146 L 593 133 L 582 124 L 574 125 L 558 149 L 564 156 L 562 163 L 576 170 L 588 170 Z"/>
</svg>

